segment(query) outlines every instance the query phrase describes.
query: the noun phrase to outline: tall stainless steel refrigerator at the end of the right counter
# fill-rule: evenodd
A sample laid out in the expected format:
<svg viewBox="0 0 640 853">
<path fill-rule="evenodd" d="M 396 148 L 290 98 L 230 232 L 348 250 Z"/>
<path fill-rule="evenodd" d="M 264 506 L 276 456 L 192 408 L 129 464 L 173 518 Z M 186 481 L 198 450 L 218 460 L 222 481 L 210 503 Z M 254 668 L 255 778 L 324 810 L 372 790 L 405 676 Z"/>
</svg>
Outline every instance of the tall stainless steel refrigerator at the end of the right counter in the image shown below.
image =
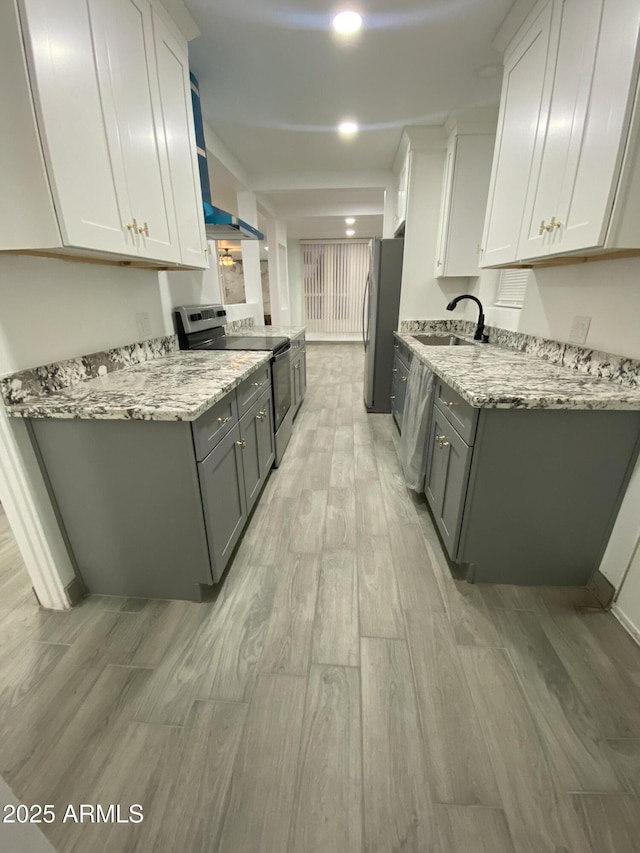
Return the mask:
<svg viewBox="0 0 640 853">
<path fill-rule="evenodd" d="M 371 241 L 362 304 L 364 403 L 368 412 L 391 411 L 393 332 L 398 328 L 404 240 Z"/>
</svg>

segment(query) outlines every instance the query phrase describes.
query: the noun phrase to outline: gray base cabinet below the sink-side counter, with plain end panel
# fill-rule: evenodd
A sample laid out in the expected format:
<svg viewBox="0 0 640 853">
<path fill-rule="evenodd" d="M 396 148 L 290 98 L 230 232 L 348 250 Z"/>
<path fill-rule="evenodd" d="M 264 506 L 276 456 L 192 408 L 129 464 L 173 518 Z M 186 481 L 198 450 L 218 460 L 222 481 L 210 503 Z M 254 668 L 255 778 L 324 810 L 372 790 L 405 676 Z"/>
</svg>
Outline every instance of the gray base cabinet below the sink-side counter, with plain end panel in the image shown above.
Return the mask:
<svg viewBox="0 0 640 853">
<path fill-rule="evenodd" d="M 639 435 L 639 412 L 474 409 L 439 383 L 425 494 L 449 556 L 470 581 L 587 586 Z"/>
</svg>

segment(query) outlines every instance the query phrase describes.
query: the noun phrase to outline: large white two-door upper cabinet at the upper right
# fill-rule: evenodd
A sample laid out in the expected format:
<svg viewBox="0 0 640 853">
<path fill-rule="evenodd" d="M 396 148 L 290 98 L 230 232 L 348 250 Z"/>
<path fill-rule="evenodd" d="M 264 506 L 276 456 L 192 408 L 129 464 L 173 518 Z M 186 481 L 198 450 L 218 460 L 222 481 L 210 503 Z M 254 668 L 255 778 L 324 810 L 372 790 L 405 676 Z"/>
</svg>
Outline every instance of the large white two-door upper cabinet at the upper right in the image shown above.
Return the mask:
<svg viewBox="0 0 640 853">
<path fill-rule="evenodd" d="M 640 249 L 639 29 L 637 0 L 547 0 L 514 38 L 483 266 Z M 514 86 L 526 54 L 528 73 Z"/>
</svg>

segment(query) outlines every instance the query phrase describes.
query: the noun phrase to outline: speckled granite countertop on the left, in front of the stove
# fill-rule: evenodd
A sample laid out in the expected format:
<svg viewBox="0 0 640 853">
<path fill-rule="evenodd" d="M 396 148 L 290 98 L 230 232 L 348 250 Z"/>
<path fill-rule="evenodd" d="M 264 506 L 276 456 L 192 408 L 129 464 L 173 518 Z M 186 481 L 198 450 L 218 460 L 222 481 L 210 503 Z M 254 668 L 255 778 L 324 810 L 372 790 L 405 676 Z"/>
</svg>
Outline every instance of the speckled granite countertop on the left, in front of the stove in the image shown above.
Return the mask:
<svg viewBox="0 0 640 853">
<path fill-rule="evenodd" d="M 18 418 L 194 421 L 271 358 L 270 352 L 172 352 L 7 406 Z"/>
</svg>

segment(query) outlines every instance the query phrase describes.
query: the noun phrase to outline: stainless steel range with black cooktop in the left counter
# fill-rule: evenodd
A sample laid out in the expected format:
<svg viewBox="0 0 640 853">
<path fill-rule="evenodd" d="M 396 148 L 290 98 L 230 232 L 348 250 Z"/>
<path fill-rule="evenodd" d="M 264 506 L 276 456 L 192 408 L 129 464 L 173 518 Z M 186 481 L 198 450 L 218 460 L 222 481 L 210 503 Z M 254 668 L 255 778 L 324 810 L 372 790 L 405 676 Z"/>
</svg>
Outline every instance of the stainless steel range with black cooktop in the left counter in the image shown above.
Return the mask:
<svg viewBox="0 0 640 853">
<path fill-rule="evenodd" d="M 181 305 L 174 312 L 180 349 L 253 350 L 271 352 L 273 422 L 276 430 L 276 467 L 291 438 L 291 342 L 285 337 L 248 337 L 225 334 L 223 305 Z"/>
</svg>

